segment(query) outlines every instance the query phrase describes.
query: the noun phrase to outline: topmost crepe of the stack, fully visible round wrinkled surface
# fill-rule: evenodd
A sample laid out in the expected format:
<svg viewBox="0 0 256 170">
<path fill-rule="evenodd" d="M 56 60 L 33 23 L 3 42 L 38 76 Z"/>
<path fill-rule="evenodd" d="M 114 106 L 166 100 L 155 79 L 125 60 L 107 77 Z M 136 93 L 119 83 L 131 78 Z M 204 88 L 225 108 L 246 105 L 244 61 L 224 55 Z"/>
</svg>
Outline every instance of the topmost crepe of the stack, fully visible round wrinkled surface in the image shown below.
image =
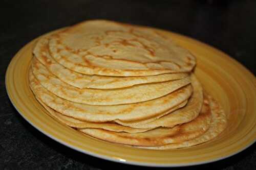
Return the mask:
<svg viewBox="0 0 256 170">
<path fill-rule="evenodd" d="M 153 76 L 189 72 L 196 59 L 169 38 L 150 29 L 107 20 L 90 20 L 56 33 L 51 56 L 87 75 Z"/>
</svg>

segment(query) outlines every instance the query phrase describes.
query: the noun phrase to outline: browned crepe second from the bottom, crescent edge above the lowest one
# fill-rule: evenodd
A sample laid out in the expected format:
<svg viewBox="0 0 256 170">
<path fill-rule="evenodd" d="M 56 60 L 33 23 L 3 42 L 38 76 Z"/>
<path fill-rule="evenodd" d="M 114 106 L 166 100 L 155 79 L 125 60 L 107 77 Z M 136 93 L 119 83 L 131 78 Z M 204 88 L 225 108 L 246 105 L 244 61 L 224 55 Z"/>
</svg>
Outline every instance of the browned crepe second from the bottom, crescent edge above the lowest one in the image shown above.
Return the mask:
<svg viewBox="0 0 256 170">
<path fill-rule="evenodd" d="M 112 132 L 93 128 L 80 129 L 80 131 L 110 142 L 139 146 L 160 146 L 194 139 L 208 130 L 210 121 L 211 110 L 208 102 L 204 102 L 197 118 L 189 123 L 177 125 L 173 128 L 157 128 L 139 133 Z"/>
</svg>

